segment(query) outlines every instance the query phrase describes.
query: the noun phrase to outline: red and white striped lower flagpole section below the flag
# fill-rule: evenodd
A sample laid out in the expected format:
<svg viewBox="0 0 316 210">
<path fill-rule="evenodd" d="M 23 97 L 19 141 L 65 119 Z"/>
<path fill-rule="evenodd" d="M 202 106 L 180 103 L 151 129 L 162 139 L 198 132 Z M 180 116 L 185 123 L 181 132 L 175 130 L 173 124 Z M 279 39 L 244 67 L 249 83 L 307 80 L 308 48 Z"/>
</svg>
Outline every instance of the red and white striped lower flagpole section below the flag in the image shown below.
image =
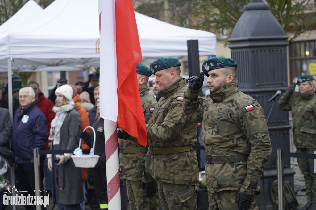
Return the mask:
<svg viewBox="0 0 316 210">
<path fill-rule="evenodd" d="M 104 120 L 107 201 L 109 209 L 121 209 L 119 184 L 119 144 L 116 122 Z"/>
</svg>

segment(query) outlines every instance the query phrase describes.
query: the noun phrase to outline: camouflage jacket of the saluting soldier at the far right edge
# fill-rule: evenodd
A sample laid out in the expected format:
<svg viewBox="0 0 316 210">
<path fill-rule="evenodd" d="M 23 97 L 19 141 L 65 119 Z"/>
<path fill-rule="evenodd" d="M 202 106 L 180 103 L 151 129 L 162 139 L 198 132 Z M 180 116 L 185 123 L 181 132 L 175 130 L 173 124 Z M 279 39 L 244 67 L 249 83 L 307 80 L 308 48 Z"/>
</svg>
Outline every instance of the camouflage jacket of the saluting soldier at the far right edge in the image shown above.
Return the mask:
<svg viewBox="0 0 316 210">
<path fill-rule="evenodd" d="M 316 95 L 313 91 L 291 98 L 286 91 L 278 105 L 284 111 L 292 111 L 293 138 L 296 148 L 316 148 Z"/>
</svg>

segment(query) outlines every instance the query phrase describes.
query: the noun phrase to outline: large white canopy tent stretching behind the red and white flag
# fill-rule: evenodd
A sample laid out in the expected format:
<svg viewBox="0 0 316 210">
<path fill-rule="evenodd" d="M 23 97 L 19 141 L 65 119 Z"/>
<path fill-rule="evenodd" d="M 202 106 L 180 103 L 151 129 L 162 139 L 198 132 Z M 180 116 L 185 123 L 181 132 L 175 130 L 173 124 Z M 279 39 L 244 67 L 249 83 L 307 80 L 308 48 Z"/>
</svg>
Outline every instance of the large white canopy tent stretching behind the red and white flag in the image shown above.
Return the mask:
<svg viewBox="0 0 316 210">
<path fill-rule="evenodd" d="M 183 28 L 135 12 L 143 60 L 187 56 L 187 40 L 197 39 L 200 55 L 216 55 L 213 33 Z M 9 21 L 9 20 L 8 20 Z M 124 31 L 122 31 L 124 33 Z M 2 38 L 1 38 L 2 37 Z M 67 71 L 98 67 L 98 2 L 55 0 L 38 15 L 0 34 L 0 71 Z"/>
</svg>

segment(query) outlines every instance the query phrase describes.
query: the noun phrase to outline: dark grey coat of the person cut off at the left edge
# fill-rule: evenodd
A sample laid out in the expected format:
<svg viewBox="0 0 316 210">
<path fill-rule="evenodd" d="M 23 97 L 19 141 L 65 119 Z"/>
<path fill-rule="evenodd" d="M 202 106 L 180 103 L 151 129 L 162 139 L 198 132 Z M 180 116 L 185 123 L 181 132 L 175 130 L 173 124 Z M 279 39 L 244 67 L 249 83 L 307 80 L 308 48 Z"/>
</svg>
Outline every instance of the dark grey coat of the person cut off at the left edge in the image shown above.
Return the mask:
<svg viewBox="0 0 316 210">
<path fill-rule="evenodd" d="M 12 134 L 12 121 L 9 110 L 0 108 L 0 146 L 9 149 L 9 140 Z"/>
</svg>

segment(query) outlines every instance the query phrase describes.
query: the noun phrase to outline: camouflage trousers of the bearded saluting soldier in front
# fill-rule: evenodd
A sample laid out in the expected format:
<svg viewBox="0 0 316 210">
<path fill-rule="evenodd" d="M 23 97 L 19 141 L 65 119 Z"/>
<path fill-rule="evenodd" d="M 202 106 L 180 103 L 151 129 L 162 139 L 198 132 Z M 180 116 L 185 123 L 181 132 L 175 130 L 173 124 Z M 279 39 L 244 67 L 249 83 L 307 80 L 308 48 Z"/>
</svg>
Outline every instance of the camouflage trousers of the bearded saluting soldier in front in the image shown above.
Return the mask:
<svg viewBox="0 0 316 210">
<path fill-rule="evenodd" d="M 235 202 L 238 191 L 232 190 L 223 190 L 217 193 L 209 192 L 209 210 L 237 210 L 238 204 Z M 258 210 L 258 206 L 256 204 L 257 194 L 254 196 L 250 210 Z"/>
</svg>

